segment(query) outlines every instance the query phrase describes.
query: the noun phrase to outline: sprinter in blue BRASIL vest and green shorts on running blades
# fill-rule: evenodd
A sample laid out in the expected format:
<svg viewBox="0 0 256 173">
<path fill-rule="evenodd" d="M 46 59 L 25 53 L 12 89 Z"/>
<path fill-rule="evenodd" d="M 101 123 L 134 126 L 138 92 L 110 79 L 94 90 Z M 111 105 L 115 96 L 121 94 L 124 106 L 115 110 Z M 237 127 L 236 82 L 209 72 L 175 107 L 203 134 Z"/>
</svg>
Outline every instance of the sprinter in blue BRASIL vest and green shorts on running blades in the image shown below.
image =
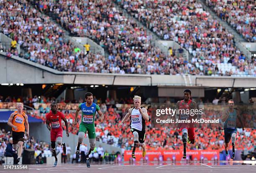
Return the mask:
<svg viewBox="0 0 256 173">
<path fill-rule="evenodd" d="M 89 155 L 94 150 L 96 142 L 94 117 L 97 111 L 97 113 L 100 115 L 99 121 L 102 122 L 104 119 L 104 115 L 100 111 L 100 107 L 97 104 L 93 103 L 93 95 L 91 92 L 85 93 L 85 102 L 79 104 L 79 106 L 77 107 L 73 127 L 77 125 L 77 116 L 80 110 L 82 110 L 82 120 L 79 125 L 76 159 L 79 159 L 80 144 L 83 142 L 85 133 L 88 132 L 90 150 L 89 153 L 86 155 L 86 164 L 87 167 L 90 168 Z"/>
</svg>

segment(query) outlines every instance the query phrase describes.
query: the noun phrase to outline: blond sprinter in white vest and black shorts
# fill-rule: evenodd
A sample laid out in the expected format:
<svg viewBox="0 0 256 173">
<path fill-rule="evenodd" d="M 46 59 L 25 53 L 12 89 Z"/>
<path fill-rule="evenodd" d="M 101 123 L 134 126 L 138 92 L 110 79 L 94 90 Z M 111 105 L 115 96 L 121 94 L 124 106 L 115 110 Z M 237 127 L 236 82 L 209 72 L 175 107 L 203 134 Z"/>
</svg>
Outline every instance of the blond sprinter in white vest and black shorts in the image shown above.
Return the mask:
<svg viewBox="0 0 256 173">
<path fill-rule="evenodd" d="M 119 123 L 118 127 L 123 125 L 123 123 L 126 120 L 128 120 L 128 118 L 130 117 L 130 120 L 131 120 L 130 127 L 131 127 L 131 132 L 133 133 L 133 141 L 134 141 L 132 158 L 136 158 L 135 150 L 138 142 L 140 146 L 143 148 L 142 156 L 145 157 L 146 155 L 146 144 L 144 143 L 145 124 L 146 124 L 146 121 L 149 120 L 148 111 L 146 108 L 141 107 L 141 97 L 134 96 L 133 103 L 134 103 L 134 107 L 128 110 L 128 113 L 125 115 L 123 120 Z"/>
</svg>

